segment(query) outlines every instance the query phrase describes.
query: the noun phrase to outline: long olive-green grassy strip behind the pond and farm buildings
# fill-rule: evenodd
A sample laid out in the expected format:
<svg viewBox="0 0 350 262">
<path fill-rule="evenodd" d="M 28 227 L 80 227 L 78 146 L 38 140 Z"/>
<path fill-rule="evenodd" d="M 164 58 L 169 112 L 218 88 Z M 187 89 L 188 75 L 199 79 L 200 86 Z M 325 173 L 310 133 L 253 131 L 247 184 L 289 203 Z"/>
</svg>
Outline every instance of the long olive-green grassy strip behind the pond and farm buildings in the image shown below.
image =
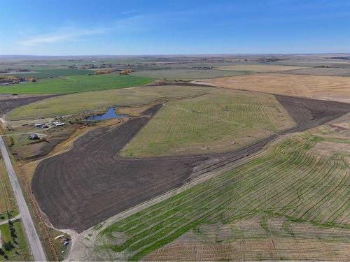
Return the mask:
<svg viewBox="0 0 350 262">
<path fill-rule="evenodd" d="M 111 106 L 137 106 L 156 101 L 162 103 L 162 101 L 167 101 L 167 99 L 206 94 L 209 90 L 211 88 L 164 86 L 133 87 L 69 94 L 16 108 L 9 112 L 7 118 L 23 119 L 28 117 L 70 115 L 85 111 L 106 110 L 106 108 Z"/>
</svg>

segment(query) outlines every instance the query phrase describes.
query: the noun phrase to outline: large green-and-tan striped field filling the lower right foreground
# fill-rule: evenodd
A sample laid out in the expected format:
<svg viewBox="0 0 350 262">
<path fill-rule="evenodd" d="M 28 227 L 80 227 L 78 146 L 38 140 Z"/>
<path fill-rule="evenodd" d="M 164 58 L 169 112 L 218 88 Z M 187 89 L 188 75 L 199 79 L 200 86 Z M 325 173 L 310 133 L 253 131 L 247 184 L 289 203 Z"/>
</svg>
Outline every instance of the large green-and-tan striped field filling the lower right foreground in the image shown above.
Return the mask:
<svg viewBox="0 0 350 262">
<path fill-rule="evenodd" d="M 248 163 L 107 226 L 95 252 L 132 261 L 349 259 L 349 162 L 319 154 L 321 140 L 285 137 Z"/>
</svg>

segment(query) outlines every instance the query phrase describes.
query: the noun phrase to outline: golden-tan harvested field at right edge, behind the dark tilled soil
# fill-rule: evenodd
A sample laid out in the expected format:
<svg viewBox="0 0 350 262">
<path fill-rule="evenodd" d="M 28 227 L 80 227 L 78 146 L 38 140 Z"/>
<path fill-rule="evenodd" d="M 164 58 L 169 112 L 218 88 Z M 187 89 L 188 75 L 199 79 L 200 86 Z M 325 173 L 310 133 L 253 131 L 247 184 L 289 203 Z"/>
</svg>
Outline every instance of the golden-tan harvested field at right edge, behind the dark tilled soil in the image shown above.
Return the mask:
<svg viewBox="0 0 350 262">
<path fill-rule="evenodd" d="M 202 83 L 232 89 L 350 102 L 350 78 L 321 75 L 244 75 L 204 80 Z"/>
</svg>

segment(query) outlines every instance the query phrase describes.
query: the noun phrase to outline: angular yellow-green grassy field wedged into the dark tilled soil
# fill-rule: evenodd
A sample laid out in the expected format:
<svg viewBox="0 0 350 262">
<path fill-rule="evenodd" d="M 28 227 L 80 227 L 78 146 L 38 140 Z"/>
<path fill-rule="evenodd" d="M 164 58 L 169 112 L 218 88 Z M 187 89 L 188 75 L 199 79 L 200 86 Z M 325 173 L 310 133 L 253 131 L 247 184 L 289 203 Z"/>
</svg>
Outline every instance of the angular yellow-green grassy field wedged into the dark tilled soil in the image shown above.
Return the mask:
<svg viewBox="0 0 350 262">
<path fill-rule="evenodd" d="M 225 152 L 294 124 L 272 95 L 216 89 L 205 96 L 165 103 L 123 156 Z"/>
</svg>

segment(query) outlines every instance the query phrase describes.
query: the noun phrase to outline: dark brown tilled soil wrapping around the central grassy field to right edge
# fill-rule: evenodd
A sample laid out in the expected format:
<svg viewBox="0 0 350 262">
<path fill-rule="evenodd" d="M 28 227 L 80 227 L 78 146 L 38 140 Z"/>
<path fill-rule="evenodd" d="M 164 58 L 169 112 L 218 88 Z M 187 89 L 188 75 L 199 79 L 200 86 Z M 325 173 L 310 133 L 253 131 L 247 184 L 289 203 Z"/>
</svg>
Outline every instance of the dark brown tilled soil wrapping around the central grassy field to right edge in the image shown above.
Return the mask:
<svg viewBox="0 0 350 262">
<path fill-rule="evenodd" d="M 302 131 L 350 112 L 350 104 L 276 96 Z M 181 157 L 118 157 L 160 105 L 114 128 L 95 129 L 73 149 L 39 163 L 32 180 L 41 210 L 56 228 L 81 232 L 134 205 L 257 152 L 278 134 L 222 154 Z"/>
</svg>

